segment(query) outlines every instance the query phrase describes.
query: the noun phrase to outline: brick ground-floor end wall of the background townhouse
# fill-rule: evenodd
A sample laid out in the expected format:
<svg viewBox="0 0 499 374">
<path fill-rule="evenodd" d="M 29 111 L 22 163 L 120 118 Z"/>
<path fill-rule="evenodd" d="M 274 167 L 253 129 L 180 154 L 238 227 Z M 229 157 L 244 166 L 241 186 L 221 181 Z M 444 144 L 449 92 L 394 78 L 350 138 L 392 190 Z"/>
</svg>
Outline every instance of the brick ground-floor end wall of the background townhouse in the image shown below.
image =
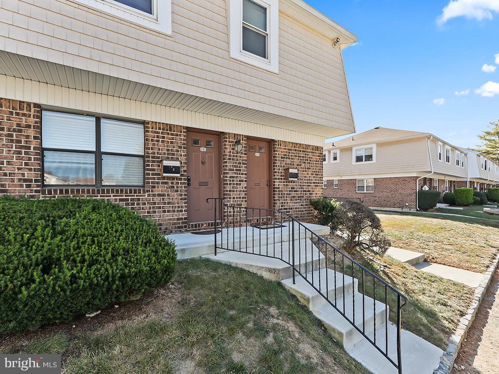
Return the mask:
<svg viewBox="0 0 499 374">
<path fill-rule="evenodd" d="M 368 206 L 415 209 L 416 180 L 416 177 L 375 178 L 373 193 L 357 192 L 356 179 L 340 179 L 338 188 L 333 188 L 333 181 L 328 180 L 327 188 L 322 191 L 325 197 L 361 198 Z"/>
</svg>

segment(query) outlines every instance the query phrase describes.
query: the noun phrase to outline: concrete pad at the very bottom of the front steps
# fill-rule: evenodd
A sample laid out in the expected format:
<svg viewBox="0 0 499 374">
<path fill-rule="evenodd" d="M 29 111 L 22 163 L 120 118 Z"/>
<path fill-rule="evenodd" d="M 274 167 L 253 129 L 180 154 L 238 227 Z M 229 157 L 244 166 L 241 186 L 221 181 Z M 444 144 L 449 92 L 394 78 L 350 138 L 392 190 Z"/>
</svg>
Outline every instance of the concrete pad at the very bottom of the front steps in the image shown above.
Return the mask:
<svg viewBox="0 0 499 374">
<path fill-rule="evenodd" d="M 376 330 L 376 344 L 383 351 L 386 348 L 385 326 Z M 388 356 L 397 363 L 397 327 L 388 324 Z M 374 340 L 374 333 L 369 335 Z M 362 364 L 373 374 L 397 374 L 395 367 L 366 339 L 346 347 L 350 356 Z M 426 340 L 402 330 L 401 333 L 402 373 L 433 374 L 440 365 L 440 357 L 444 351 Z"/>
</svg>

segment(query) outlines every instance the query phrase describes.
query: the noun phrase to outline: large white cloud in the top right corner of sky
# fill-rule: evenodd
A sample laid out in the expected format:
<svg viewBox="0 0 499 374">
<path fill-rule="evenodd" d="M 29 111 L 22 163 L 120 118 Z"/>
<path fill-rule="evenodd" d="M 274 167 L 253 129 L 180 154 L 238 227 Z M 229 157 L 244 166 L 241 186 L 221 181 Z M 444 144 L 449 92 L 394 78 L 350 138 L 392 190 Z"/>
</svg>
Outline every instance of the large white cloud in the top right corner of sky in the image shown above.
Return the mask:
<svg viewBox="0 0 499 374">
<path fill-rule="evenodd" d="M 498 0 L 451 0 L 442 9 L 437 22 L 444 24 L 451 18 L 465 16 L 479 21 L 492 19 L 493 12 L 499 12 Z"/>
</svg>

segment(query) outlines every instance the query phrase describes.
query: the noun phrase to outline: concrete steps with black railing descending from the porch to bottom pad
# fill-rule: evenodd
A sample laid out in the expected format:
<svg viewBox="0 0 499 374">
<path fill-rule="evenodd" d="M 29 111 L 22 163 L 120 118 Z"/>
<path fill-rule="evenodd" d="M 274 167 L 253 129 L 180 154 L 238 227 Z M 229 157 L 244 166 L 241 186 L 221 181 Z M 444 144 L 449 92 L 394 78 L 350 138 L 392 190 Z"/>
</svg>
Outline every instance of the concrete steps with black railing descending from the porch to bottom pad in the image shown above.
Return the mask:
<svg viewBox="0 0 499 374">
<path fill-rule="evenodd" d="M 261 252 L 260 247 L 255 246 L 254 248 L 245 248 L 242 252 L 225 251 L 218 253 L 217 256 L 208 254 L 202 257 L 244 268 L 271 281 L 280 281 L 289 292 L 296 295 L 298 300 L 322 321 L 331 336 L 345 347 L 350 356 L 365 368 L 374 374 L 397 373 L 395 367 L 340 313 L 344 308 L 346 316 L 353 321 L 352 312 L 355 303 L 355 325 L 360 331 L 364 331 L 371 340 L 374 340 L 376 330 L 376 342 L 381 347 L 384 347 L 385 344 L 386 324 L 388 323 L 389 356 L 397 362 L 396 326 L 389 321 L 389 309 L 385 307 L 385 304 L 359 293 L 357 279 L 332 269 L 326 269 L 324 256 L 310 239 L 302 238 L 300 246 L 303 249 L 306 242 L 307 256 L 310 257 L 310 252 L 312 252 L 313 259 L 305 258 L 303 250 L 301 253 L 297 253 L 295 250 L 295 264 L 297 267 L 301 266 L 303 271 L 302 275 L 296 274 L 295 284 L 293 284 L 292 268 L 284 262 L 290 262 L 289 247 L 291 243 L 283 242 L 281 250 L 281 244 L 278 242 L 281 239 L 276 237 L 269 241 L 271 243 L 276 241 L 275 255 L 279 258 L 266 257 L 266 246 L 264 246 L 265 251 Z M 297 240 L 295 240 L 295 248 L 298 248 Z M 269 245 L 268 250 L 268 255 L 274 256 L 273 245 Z M 283 261 L 280 260 L 281 256 Z M 317 290 L 326 295 L 327 300 Z M 376 305 L 375 312 L 374 304 Z M 364 316 L 362 306 L 364 306 Z M 424 339 L 407 331 L 402 331 L 404 374 L 432 374 L 438 368 L 442 354 L 441 349 Z"/>
</svg>

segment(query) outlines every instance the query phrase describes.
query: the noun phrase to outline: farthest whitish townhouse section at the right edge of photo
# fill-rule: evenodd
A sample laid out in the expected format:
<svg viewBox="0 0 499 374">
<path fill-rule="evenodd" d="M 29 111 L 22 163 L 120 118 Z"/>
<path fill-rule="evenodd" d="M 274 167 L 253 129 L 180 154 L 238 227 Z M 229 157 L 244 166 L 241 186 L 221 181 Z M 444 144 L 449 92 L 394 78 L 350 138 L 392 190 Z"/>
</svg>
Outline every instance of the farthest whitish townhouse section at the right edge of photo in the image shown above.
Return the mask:
<svg viewBox="0 0 499 374">
<path fill-rule="evenodd" d="M 476 191 L 487 192 L 489 187 L 499 185 L 499 165 L 483 153 L 461 148 L 468 155 L 468 187 Z"/>
</svg>

